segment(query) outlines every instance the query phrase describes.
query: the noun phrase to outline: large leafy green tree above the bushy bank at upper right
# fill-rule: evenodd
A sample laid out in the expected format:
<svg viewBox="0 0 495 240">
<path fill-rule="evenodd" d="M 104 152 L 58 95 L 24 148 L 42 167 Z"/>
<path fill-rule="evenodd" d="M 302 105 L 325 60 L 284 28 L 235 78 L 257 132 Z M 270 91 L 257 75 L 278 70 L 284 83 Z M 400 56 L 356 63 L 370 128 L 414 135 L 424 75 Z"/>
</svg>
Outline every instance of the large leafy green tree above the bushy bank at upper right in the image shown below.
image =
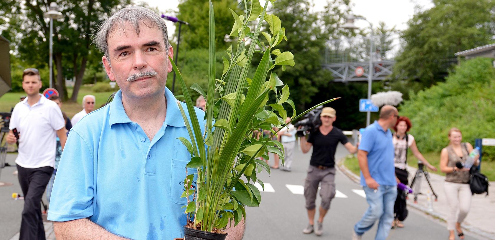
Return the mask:
<svg viewBox="0 0 495 240">
<path fill-rule="evenodd" d="M 443 81 L 455 52 L 493 42 L 495 1 L 433 3 L 431 9 L 415 14 L 402 33 L 405 46 L 396 57 L 394 89 L 417 91 Z"/>
</svg>

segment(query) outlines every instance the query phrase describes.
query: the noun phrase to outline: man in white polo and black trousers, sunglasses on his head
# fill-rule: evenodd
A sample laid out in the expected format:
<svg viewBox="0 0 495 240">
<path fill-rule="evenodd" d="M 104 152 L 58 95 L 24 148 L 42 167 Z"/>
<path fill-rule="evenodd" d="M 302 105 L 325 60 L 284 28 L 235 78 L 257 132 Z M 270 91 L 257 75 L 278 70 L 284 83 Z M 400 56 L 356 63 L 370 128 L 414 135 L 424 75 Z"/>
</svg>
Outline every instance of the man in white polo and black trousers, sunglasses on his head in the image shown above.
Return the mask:
<svg viewBox="0 0 495 240">
<path fill-rule="evenodd" d="M 7 135 L 7 143 L 19 142 L 15 163 L 24 194 L 19 240 L 45 239 L 41 197 L 53 173 L 56 137 L 60 138 L 62 148 L 67 139 L 62 112 L 55 102 L 40 94 L 41 87 L 38 69 L 24 70 L 22 88 L 27 97 L 15 105 Z"/>
</svg>

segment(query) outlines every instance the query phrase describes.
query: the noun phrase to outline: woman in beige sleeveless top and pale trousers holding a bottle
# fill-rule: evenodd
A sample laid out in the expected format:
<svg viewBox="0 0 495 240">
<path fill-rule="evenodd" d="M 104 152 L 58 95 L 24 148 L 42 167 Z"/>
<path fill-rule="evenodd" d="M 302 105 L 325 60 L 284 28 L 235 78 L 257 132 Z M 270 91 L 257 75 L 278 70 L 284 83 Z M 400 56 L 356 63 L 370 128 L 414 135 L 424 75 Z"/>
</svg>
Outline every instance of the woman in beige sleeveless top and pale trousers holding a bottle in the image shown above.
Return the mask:
<svg viewBox="0 0 495 240">
<path fill-rule="evenodd" d="M 449 240 L 455 240 L 454 228 L 460 239 L 464 239 L 461 223 L 471 207 L 471 189 L 469 188 L 469 169 L 457 168 L 457 162 L 465 163 L 473 150 L 470 143 L 462 143 L 462 133 L 457 128 L 448 131 L 450 144 L 442 149 L 440 170 L 446 173 L 445 193 L 450 212 L 447 216 Z M 475 156 L 474 166 L 479 164 L 479 156 Z"/>
</svg>

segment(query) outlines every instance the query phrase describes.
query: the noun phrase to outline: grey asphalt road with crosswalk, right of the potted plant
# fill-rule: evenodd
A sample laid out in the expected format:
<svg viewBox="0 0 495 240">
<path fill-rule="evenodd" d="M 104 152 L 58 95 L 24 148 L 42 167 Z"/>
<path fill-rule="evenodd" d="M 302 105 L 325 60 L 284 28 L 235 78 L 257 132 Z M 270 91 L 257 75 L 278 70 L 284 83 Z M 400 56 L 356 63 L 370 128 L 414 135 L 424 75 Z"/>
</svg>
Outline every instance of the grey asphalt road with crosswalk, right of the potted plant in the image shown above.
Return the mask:
<svg viewBox="0 0 495 240">
<path fill-rule="evenodd" d="M 337 149 L 336 159 L 348 154 L 343 145 Z M 311 153 L 303 154 L 300 150 L 295 151 L 293 171 L 284 172 L 272 170 L 268 174 L 259 175 L 261 180 L 269 183 L 274 192 L 262 192 L 259 207 L 247 208 L 246 233 L 244 240 L 350 240 L 354 224 L 359 221 L 368 207 L 366 199 L 357 193 L 362 188 L 349 180 L 342 172 L 337 171 L 336 185 L 337 196 L 332 201 L 330 210 L 323 222 L 324 233 L 321 237 L 314 234 L 303 234 L 307 224 L 306 209 L 304 208 L 304 196 L 292 193 L 286 185 L 304 184 L 306 170 L 309 165 Z M 273 164 L 273 161 L 270 161 Z M 300 188 L 300 187 L 299 187 Z M 297 187 L 293 187 L 297 190 Z M 361 191 L 360 191 L 361 190 Z M 319 196 L 318 196 L 319 197 Z M 319 207 L 320 199 L 316 199 Z M 316 219 L 315 219 L 316 221 Z M 405 228 L 392 229 L 388 240 L 446 240 L 448 232 L 446 224 L 438 219 L 426 215 L 423 212 L 409 207 L 409 216 L 404 222 Z M 363 240 L 375 238 L 376 227 L 363 235 Z M 482 240 L 465 231 L 466 240 Z M 458 238 L 457 238 L 458 239 Z"/>
</svg>

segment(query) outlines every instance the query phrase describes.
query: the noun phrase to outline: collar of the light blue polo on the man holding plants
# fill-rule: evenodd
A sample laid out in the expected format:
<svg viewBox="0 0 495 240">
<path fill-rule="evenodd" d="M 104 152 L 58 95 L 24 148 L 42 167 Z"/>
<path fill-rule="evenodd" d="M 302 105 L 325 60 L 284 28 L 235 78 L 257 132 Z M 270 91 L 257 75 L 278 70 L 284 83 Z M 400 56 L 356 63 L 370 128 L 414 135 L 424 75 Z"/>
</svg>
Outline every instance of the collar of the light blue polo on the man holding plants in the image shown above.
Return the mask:
<svg viewBox="0 0 495 240">
<path fill-rule="evenodd" d="M 167 99 L 167 115 L 165 116 L 165 124 L 173 127 L 185 127 L 186 125 L 184 124 L 181 111 L 177 105 L 177 99 L 172 92 L 168 90 L 168 88 L 165 88 L 165 98 Z M 185 107 L 184 110 L 186 110 Z M 124 105 L 122 104 L 121 90 L 117 91 L 110 104 L 109 115 L 110 126 L 116 123 L 133 122 L 125 113 Z"/>
</svg>

